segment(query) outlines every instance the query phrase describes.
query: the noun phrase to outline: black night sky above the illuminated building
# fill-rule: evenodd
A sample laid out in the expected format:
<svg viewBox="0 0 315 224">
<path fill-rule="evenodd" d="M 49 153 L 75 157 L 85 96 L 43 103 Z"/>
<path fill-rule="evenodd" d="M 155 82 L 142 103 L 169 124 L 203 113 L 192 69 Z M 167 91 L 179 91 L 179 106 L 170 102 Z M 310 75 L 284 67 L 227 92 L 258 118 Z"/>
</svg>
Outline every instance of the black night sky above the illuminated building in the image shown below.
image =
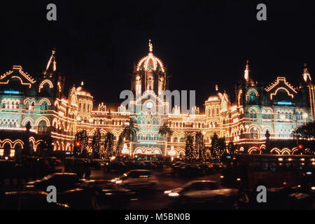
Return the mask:
<svg viewBox="0 0 315 224">
<path fill-rule="evenodd" d="M 267 21 L 256 20 L 258 3 Z M 304 62 L 314 77 L 314 10 L 311 1 L 1 1 L 0 73 L 20 64 L 36 76 L 56 48 L 68 87 L 84 80 L 97 101 L 118 102 L 151 39 L 171 89 L 196 90 L 201 106 L 216 84 L 234 94 L 246 59 L 265 85 L 279 75 L 297 85 Z"/>
</svg>

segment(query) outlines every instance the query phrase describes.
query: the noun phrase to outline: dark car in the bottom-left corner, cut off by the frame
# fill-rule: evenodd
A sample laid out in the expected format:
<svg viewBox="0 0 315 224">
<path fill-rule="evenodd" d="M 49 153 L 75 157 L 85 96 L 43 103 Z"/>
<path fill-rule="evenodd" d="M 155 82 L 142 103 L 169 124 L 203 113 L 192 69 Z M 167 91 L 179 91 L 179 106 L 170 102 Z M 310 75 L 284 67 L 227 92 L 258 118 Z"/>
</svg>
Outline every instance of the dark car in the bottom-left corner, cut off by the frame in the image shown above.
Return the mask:
<svg viewBox="0 0 315 224">
<path fill-rule="evenodd" d="M 48 203 L 48 193 L 44 191 L 26 190 L 6 192 L 1 197 L 0 210 L 69 210 L 67 204 Z"/>
</svg>

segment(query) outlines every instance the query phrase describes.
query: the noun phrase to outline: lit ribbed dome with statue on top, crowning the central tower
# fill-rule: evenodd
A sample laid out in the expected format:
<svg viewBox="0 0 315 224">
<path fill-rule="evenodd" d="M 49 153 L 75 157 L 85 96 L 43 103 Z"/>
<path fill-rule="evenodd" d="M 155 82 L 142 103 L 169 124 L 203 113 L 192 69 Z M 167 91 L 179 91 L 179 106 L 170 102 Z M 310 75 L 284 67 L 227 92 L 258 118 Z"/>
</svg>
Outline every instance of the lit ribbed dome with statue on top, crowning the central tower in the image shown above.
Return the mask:
<svg viewBox="0 0 315 224">
<path fill-rule="evenodd" d="M 153 45 L 151 43 L 151 40 L 149 41 L 149 53 L 146 57 L 143 57 L 138 65 L 137 65 L 137 71 L 162 71 L 165 72 L 164 65 L 162 61 L 153 55 Z"/>
</svg>

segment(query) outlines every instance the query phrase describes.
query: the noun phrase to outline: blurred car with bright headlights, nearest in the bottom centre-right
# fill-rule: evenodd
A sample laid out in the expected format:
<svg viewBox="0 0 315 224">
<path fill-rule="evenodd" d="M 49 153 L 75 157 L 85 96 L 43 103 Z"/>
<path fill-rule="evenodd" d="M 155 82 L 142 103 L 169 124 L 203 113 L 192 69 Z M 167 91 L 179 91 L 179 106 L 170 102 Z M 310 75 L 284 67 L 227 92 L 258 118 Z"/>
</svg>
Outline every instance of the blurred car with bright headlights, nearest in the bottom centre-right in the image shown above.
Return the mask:
<svg viewBox="0 0 315 224">
<path fill-rule="evenodd" d="M 207 204 L 211 208 L 218 205 L 230 208 L 235 207 L 239 200 L 238 189 L 220 188 L 216 181 L 189 181 L 180 188 L 165 190 L 164 193 L 179 207 L 204 207 Z"/>
</svg>

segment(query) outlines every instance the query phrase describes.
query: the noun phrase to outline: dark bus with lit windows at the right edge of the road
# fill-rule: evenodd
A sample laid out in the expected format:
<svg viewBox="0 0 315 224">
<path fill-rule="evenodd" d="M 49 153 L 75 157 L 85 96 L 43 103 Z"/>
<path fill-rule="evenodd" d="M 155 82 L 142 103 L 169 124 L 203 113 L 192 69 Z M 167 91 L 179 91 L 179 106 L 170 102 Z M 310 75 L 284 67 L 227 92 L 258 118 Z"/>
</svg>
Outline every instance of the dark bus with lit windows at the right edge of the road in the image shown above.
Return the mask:
<svg viewBox="0 0 315 224">
<path fill-rule="evenodd" d="M 221 183 L 244 190 L 291 188 L 306 184 L 314 170 L 314 155 L 235 155 L 225 162 Z"/>
</svg>

